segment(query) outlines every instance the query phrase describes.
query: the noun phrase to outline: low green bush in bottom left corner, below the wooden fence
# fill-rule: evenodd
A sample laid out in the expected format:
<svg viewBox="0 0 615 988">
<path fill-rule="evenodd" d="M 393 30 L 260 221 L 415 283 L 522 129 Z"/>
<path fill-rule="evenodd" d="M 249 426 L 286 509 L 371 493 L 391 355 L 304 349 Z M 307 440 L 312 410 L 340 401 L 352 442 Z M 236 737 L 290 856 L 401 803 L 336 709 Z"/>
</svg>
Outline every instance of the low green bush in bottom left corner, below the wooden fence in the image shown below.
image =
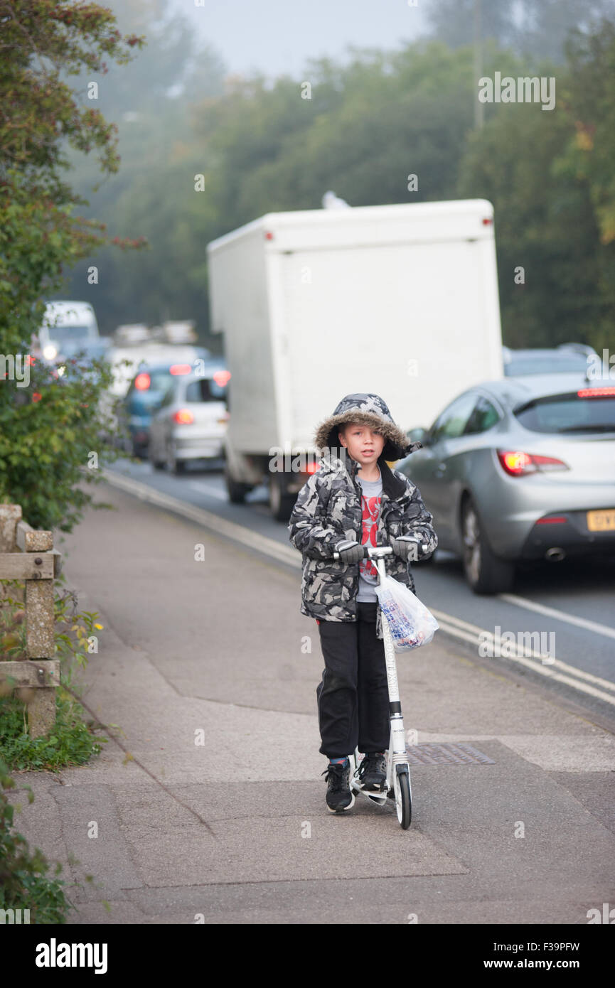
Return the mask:
<svg viewBox="0 0 615 988">
<path fill-rule="evenodd" d="M 47 875 L 49 863 L 39 848 L 30 849 L 26 838 L 14 829 L 15 806 L 8 791 L 15 781 L 0 757 L 0 909 L 29 909 L 31 924 L 66 922 L 74 906 L 64 891 L 66 882 Z M 34 800 L 28 786 L 28 801 Z M 61 865 L 55 865 L 55 875 Z"/>
</svg>

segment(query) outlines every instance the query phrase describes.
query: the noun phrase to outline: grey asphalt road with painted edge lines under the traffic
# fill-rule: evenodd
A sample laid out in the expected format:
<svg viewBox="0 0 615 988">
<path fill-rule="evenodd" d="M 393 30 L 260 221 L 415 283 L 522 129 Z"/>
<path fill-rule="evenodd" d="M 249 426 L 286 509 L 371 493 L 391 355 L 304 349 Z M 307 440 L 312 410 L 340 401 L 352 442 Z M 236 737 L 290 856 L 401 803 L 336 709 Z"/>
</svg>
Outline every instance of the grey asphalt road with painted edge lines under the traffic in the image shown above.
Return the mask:
<svg viewBox="0 0 615 988">
<path fill-rule="evenodd" d="M 158 504 L 173 506 L 180 514 L 181 506 L 173 505 L 173 499 L 205 510 L 230 524 L 227 535 L 247 545 L 257 539 L 257 551 L 273 555 L 282 565 L 300 565 L 286 524 L 271 517 L 264 486 L 252 491 L 245 504 L 233 505 L 217 468 L 191 465 L 185 475 L 174 476 L 153 470 L 147 462 L 126 459 L 115 463 L 108 475 L 132 493 L 140 490 L 145 499 L 160 495 Z M 165 498 L 171 499 L 166 505 Z M 210 521 L 216 528 L 215 519 Z M 585 710 L 596 723 L 613 726 L 613 561 L 542 563 L 519 571 L 512 593 L 479 597 L 464 579 L 461 560 L 439 552 L 433 563 L 415 566 L 415 580 L 419 597 L 438 618 L 440 632 L 463 645 L 475 659 L 483 658 L 486 664 L 496 664 L 498 671 L 531 680 L 537 689 L 555 692 L 569 708 Z M 488 641 L 493 639 L 485 635 L 497 637 L 504 632 L 514 636 L 511 654 L 502 655 L 503 649 L 500 654 L 488 654 Z"/>
</svg>

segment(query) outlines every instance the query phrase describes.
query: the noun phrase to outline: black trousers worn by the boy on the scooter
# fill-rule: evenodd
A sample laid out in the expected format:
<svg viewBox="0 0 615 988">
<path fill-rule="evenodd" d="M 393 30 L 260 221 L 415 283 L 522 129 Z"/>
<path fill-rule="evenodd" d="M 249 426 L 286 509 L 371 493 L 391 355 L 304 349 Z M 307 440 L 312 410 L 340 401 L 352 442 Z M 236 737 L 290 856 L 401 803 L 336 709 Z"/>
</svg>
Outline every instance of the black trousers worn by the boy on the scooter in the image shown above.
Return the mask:
<svg viewBox="0 0 615 988">
<path fill-rule="evenodd" d="M 389 748 L 389 685 L 385 643 L 376 637 L 378 604 L 357 602 L 356 621 L 319 620 L 324 658 L 316 687 L 318 726 L 327 758 Z"/>
</svg>

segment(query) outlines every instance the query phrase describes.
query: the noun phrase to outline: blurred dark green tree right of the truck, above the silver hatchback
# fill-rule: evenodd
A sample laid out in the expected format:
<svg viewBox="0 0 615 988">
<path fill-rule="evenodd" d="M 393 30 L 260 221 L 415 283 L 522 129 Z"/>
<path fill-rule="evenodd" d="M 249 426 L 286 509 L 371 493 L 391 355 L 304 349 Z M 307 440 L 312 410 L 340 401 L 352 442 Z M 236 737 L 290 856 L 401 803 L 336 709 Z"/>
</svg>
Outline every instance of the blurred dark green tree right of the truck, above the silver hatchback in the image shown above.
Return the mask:
<svg viewBox="0 0 615 988">
<path fill-rule="evenodd" d="M 556 107 L 487 105 L 460 169 L 456 195 L 493 203 L 504 342 L 612 347 L 615 303 L 615 28 L 577 35 L 564 73 L 488 51 L 493 76 L 555 76 Z M 610 74 L 607 69 L 610 68 Z M 525 284 L 515 284 L 515 269 Z"/>
</svg>

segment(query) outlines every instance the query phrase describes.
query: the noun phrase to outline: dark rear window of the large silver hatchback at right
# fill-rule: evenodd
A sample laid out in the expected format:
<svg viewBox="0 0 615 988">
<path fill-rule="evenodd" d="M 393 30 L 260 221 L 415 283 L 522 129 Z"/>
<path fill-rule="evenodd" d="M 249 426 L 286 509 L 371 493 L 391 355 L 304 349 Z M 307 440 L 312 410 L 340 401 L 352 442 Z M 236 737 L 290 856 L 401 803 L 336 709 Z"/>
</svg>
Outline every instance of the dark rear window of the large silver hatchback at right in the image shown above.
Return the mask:
<svg viewBox="0 0 615 988">
<path fill-rule="evenodd" d="M 535 398 L 515 409 L 514 415 L 532 432 L 615 432 L 615 393 L 581 397 L 573 391 Z"/>
</svg>

